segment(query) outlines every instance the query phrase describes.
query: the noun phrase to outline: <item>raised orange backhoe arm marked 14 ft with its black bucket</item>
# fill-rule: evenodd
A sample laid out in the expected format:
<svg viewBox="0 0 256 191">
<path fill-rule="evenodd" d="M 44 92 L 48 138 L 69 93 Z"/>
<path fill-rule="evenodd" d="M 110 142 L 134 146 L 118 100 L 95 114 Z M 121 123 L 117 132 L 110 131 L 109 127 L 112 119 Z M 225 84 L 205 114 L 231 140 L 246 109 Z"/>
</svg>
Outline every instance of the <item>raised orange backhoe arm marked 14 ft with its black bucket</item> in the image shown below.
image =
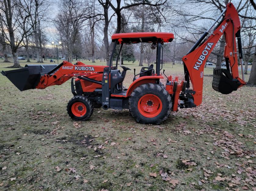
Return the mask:
<svg viewBox="0 0 256 191">
<path fill-rule="evenodd" d="M 224 15 L 222 20 L 218 23 L 213 32 L 208 34 L 210 29 L 216 22 L 218 22 L 222 15 Z M 188 82 L 187 89 L 190 87 L 190 80 L 193 87 L 190 92 L 193 92 L 192 96 L 196 106 L 200 105 L 202 102 L 204 65 L 222 35 L 225 35 L 226 41 L 224 57 L 227 69 L 214 69 L 213 88 L 222 94 L 229 94 L 233 90 L 246 84 L 244 79 L 239 77 L 238 73 L 236 37 L 238 38 L 239 58 L 240 62 L 242 62 L 242 46 L 240 39 L 241 26 L 238 13 L 232 3 L 229 3 L 226 6 L 226 9 L 215 23 L 190 49 L 189 53 L 182 58 L 184 62 L 185 80 Z M 241 67 L 243 67 L 243 65 L 241 65 Z"/>
</svg>

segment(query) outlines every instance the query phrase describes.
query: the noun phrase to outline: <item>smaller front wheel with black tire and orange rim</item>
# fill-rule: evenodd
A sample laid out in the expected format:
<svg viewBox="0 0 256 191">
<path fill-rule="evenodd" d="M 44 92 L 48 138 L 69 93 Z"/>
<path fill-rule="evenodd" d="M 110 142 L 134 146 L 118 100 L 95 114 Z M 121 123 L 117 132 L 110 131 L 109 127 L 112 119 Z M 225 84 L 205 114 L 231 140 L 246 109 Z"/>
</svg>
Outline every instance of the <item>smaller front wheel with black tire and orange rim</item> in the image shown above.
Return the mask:
<svg viewBox="0 0 256 191">
<path fill-rule="evenodd" d="M 67 113 L 75 121 L 85 121 L 93 113 L 92 102 L 85 96 L 74 96 L 67 104 Z"/>
</svg>

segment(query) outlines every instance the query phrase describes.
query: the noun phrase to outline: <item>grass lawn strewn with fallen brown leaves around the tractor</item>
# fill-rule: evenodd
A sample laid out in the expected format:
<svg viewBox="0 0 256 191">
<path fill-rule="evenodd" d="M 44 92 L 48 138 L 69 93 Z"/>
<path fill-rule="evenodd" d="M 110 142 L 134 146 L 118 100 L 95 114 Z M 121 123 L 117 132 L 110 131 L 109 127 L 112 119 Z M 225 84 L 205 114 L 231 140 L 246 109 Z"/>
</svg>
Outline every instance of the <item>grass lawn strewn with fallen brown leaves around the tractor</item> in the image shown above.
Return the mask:
<svg viewBox="0 0 256 191">
<path fill-rule="evenodd" d="M 138 62 L 125 66 L 140 70 Z M 180 64 L 164 69 L 184 77 Z M 0 75 L 0 190 L 256 190 L 256 88 L 222 95 L 212 72 L 204 70 L 203 103 L 161 125 L 101 108 L 72 121 L 70 81 L 20 92 Z M 129 70 L 127 87 L 132 78 Z"/>
</svg>

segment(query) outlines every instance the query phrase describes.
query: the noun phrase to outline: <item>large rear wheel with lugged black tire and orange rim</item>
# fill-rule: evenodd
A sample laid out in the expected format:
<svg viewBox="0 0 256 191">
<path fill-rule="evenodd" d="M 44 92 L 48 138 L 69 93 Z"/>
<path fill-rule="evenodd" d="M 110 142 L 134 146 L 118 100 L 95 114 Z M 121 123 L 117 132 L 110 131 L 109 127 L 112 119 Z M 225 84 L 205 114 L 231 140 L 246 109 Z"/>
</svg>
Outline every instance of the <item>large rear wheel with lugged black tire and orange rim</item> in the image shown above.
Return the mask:
<svg viewBox="0 0 256 191">
<path fill-rule="evenodd" d="M 129 111 L 143 124 L 160 124 L 171 113 L 171 96 L 160 84 L 142 84 L 129 97 Z"/>
</svg>

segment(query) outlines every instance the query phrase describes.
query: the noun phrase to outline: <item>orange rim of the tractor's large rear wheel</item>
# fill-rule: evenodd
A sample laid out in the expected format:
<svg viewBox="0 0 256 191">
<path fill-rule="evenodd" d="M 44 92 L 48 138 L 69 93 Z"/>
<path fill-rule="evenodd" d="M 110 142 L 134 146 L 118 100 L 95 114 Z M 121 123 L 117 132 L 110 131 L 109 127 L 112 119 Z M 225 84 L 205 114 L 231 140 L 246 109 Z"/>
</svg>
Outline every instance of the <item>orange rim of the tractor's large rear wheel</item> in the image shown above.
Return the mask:
<svg viewBox="0 0 256 191">
<path fill-rule="evenodd" d="M 138 102 L 140 114 L 147 118 L 156 117 L 162 111 L 162 107 L 162 101 L 154 94 L 146 94 Z"/>
</svg>

